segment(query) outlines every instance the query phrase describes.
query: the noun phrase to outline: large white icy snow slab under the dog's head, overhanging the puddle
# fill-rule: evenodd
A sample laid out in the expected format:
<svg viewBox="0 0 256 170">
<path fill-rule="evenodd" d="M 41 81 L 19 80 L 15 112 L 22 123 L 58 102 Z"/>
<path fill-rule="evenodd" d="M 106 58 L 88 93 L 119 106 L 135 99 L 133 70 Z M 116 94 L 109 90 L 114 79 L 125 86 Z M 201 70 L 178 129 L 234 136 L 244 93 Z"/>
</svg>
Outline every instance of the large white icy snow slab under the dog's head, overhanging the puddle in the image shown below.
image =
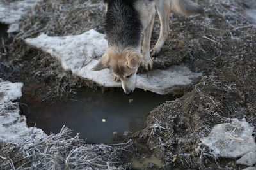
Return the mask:
<svg viewBox="0 0 256 170">
<path fill-rule="evenodd" d="M 108 48 L 108 41 L 104 34 L 91 29 L 77 36 L 50 37 L 41 34 L 37 38 L 27 38 L 25 41 L 56 57 L 60 60 L 63 69 L 71 70 L 76 76 L 87 78 L 104 87 L 122 86 L 121 83 L 113 81 L 114 77 L 109 69 L 92 71 Z M 168 94 L 178 86 L 189 85 L 201 75 L 201 73 L 191 72 L 184 65 L 172 66 L 166 70 L 138 74 L 136 87 L 157 94 Z"/>
</svg>

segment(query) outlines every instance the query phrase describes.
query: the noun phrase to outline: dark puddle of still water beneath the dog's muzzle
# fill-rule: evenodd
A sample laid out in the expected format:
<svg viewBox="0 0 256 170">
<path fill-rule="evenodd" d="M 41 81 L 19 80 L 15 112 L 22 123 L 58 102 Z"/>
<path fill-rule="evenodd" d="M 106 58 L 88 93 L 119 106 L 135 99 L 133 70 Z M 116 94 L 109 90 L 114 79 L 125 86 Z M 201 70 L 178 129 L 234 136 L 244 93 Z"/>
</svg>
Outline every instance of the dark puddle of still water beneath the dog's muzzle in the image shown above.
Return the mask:
<svg viewBox="0 0 256 170">
<path fill-rule="evenodd" d="M 36 90 L 42 91 L 36 84 L 22 89 L 20 101 L 28 105 L 29 127 L 36 124 L 49 134 L 60 132 L 66 125 L 88 143 L 111 143 L 115 132 L 138 131 L 153 108 L 174 99 L 170 95 L 161 96 L 140 89 L 126 95 L 119 90 L 102 93 L 101 90 L 79 88 L 74 89 L 76 95 L 49 105 L 40 102 Z"/>
</svg>

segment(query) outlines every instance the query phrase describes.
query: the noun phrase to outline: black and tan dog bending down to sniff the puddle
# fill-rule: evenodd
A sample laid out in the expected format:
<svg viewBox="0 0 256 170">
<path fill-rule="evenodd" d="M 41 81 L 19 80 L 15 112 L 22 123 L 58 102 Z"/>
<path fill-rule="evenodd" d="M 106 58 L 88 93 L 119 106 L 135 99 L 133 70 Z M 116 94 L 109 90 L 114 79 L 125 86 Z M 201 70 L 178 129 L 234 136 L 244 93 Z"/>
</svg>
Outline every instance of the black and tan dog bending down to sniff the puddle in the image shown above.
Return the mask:
<svg viewBox="0 0 256 170">
<path fill-rule="evenodd" d="M 114 80 L 122 82 L 126 94 L 136 87 L 138 67 L 142 66 L 147 71 L 153 67 L 150 39 L 156 11 L 161 31 L 151 55 L 161 50 L 169 34 L 172 11 L 181 15 L 202 13 L 202 8 L 191 0 L 104 0 L 104 4 L 109 47 L 93 70 L 109 68 Z"/>
</svg>

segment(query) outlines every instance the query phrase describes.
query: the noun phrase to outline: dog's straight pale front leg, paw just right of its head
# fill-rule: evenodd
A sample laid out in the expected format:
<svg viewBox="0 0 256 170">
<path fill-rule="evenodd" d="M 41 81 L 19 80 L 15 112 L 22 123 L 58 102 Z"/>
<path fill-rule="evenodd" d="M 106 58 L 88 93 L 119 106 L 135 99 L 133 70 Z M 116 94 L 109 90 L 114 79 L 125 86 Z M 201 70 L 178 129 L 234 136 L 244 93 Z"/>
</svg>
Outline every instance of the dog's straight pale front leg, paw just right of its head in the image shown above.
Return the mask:
<svg viewBox="0 0 256 170">
<path fill-rule="evenodd" d="M 151 20 L 144 31 L 144 39 L 142 45 L 143 60 L 141 62 L 141 66 L 143 66 L 147 71 L 153 69 L 153 61 L 150 57 L 150 39 L 152 35 L 154 20 L 155 12 L 152 13 Z"/>
</svg>

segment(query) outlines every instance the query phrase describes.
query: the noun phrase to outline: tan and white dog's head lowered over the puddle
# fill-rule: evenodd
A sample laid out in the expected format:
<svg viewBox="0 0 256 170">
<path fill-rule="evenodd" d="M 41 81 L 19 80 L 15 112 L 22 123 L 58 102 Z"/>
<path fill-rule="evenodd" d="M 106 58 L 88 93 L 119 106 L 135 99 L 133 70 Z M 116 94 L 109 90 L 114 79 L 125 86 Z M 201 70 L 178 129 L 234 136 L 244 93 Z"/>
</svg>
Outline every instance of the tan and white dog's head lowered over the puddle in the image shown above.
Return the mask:
<svg viewBox="0 0 256 170">
<path fill-rule="evenodd" d="M 141 64 L 142 55 L 134 50 L 116 52 L 109 48 L 102 56 L 100 62 L 93 67 L 94 71 L 105 68 L 111 69 L 116 78 L 120 78 L 122 88 L 126 94 L 134 91 L 136 86 L 136 73 Z"/>
</svg>

